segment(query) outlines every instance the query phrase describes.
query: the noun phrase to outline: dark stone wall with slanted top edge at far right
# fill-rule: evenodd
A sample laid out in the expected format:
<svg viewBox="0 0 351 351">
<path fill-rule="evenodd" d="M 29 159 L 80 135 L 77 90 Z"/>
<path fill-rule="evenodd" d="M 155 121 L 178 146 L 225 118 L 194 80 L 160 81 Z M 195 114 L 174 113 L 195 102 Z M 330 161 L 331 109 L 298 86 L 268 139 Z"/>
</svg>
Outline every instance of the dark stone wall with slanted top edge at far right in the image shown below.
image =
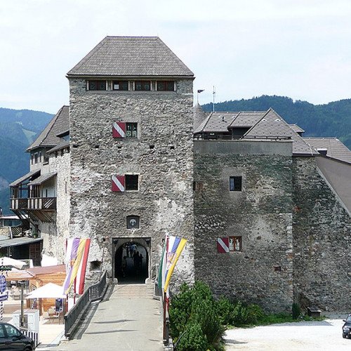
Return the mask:
<svg viewBox="0 0 351 351">
<path fill-rule="evenodd" d="M 316 159 L 293 159 L 294 298 L 351 310 L 351 218 L 319 175 Z"/>
</svg>

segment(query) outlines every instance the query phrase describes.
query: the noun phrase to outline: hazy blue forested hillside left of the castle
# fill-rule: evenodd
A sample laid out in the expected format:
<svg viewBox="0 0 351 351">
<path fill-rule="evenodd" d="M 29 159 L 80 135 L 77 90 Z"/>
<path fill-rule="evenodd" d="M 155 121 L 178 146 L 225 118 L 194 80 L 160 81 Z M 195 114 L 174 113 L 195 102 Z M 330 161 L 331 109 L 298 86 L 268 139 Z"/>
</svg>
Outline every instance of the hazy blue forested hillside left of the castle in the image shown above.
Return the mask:
<svg viewBox="0 0 351 351">
<path fill-rule="evenodd" d="M 0 207 L 9 214 L 8 184 L 29 171 L 32 141 L 53 117 L 46 112 L 0 108 Z"/>
</svg>

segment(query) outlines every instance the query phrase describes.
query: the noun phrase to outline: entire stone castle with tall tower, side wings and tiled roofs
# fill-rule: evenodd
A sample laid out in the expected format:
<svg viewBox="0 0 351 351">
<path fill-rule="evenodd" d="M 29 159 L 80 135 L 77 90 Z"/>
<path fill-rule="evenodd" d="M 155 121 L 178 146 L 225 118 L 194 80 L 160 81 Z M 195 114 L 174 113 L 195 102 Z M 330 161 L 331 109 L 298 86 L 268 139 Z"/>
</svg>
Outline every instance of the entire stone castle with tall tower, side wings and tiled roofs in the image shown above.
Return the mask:
<svg viewBox="0 0 351 351">
<path fill-rule="evenodd" d="M 154 282 L 165 234 L 188 240 L 171 282 L 284 311 L 350 310 L 351 152 L 270 109 L 205 113 L 194 74 L 158 37 L 106 37 L 67 73 L 62 107 L 27 150 L 11 209 L 62 263 L 91 237 L 88 282 Z M 27 216 L 26 216 L 27 215 Z"/>
</svg>

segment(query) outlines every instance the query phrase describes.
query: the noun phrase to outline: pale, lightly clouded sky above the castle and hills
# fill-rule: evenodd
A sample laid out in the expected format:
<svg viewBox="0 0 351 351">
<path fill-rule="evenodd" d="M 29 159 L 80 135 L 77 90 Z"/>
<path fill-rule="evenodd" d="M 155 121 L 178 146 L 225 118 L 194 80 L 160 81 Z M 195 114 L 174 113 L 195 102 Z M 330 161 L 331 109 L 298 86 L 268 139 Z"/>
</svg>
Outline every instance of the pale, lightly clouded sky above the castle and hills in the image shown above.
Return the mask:
<svg viewBox="0 0 351 351">
<path fill-rule="evenodd" d="M 200 103 L 351 98 L 349 0 L 16 0 L 0 3 L 0 107 L 55 113 L 65 74 L 106 35 L 158 35 Z M 195 97 L 196 98 L 196 97 Z"/>
</svg>

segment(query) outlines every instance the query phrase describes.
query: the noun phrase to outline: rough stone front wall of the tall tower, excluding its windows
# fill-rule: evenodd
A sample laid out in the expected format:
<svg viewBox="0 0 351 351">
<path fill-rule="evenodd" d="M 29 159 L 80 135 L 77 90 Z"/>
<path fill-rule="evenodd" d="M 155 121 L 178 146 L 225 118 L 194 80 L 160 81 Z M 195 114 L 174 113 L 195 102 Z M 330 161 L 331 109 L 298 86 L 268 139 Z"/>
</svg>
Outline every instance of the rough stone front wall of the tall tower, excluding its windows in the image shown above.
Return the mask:
<svg viewBox="0 0 351 351">
<path fill-rule="evenodd" d="M 113 273 L 115 238 L 151 238 L 150 276 L 156 277 L 166 233 L 189 243 L 173 282 L 193 270 L 192 79 L 176 92 L 86 91 L 69 79 L 71 137 L 70 235 L 91 237 L 89 261 Z M 138 123 L 138 138 L 112 138 L 112 123 Z M 139 174 L 137 192 L 112 192 L 112 175 Z M 126 229 L 126 216 L 140 229 Z M 121 242 L 121 241 L 120 241 Z M 96 276 L 94 276 L 96 274 Z M 99 273 L 88 272 L 88 280 Z"/>
</svg>

